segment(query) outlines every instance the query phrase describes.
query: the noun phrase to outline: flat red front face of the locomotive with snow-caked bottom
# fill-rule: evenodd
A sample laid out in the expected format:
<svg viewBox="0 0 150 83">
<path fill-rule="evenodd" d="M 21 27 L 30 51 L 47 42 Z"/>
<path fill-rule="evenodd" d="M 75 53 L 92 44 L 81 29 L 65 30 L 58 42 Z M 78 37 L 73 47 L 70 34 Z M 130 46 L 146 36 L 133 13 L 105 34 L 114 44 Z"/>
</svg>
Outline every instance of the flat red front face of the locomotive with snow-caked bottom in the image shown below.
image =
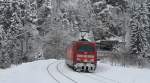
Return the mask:
<svg viewBox="0 0 150 83">
<path fill-rule="evenodd" d="M 74 70 L 94 72 L 97 65 L 96 44 L 94 42 L 76 42 Z"/>
</svg>

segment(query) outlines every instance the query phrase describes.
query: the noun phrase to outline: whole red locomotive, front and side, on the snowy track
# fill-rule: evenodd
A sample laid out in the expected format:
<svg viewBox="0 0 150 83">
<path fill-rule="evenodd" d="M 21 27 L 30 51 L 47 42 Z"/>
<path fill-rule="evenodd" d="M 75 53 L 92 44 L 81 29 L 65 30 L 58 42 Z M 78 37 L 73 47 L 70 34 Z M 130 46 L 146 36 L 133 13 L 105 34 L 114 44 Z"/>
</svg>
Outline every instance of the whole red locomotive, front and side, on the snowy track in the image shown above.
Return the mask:
<svg viewBox="0 0 150 83">
<path fill-rule="evenodd" d="M 75 71 L 94 72 L 97 65 L 96 43 L 73 41 L 67 48 L 66 64 Z"/>
</svg>

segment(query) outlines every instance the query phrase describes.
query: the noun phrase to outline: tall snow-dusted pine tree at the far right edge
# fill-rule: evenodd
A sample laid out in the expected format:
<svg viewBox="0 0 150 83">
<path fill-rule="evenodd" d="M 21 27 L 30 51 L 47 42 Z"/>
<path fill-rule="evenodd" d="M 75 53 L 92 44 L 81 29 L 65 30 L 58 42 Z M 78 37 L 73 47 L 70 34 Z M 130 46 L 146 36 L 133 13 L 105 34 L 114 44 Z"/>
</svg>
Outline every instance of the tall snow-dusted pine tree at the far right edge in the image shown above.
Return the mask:
<svg viewBox="0 0 150 83">
<path fill-rule="evenodd" d="M 148 31 L 147 10 L 144 4 L 135 11 L 130 21 L 131 28 L 131 51 L 130 54 L 137 59 L 141 59 L 146 55 L 149 48 L 149 43 L 146 38 Z"/>
</svg>

